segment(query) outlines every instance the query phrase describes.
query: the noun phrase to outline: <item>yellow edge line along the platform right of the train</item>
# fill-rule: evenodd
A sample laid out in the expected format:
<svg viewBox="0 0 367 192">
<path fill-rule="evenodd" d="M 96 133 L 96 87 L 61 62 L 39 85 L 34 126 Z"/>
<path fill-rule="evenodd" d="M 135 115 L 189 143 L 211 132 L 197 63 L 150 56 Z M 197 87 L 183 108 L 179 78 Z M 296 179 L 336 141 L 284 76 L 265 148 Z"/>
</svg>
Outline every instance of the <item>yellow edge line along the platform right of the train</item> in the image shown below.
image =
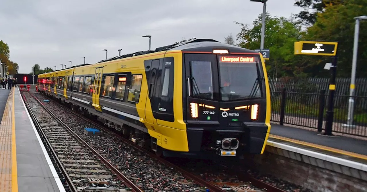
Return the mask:
<svg viewBox="0 0 367 192">
<path fill-rule="evenodd" d="M 300 145 L 304 145 L 304 146 L 308 146 L 308 147 L 314 147 L 314 148 L 318 148 L 318 149 L 321 149 L 321 150 L 330 151 L 330 152 L 333 152 L 333 153 L 348 155 L 350 157 L 355 157 L 355 158 L 367 160 L 366 155 L 353 153 L 353 152 L 349 152 L 349 151 L 344 151 L 344 150 L 340 150 L 340 149 L 336 149 L 336 148 L 332 148 L 332 147 L 321 146 L 321 145 L 318 145 L 318 144 L 308 143 L 308 142 L 300 141 L 300 140 L 297 140 L 297 139 L 286 138 L 286 137 L 273 135 L 273 134 L 270 134 L 269 138 L 280 139 L 280 140 L 287 141 L 287 142 L 292 142 L 292 143 L 296 143 L 296 144 L 300 144 Z M 269 145 L 269 144 L 267 144 L 267 145 Z"/>
</svg>

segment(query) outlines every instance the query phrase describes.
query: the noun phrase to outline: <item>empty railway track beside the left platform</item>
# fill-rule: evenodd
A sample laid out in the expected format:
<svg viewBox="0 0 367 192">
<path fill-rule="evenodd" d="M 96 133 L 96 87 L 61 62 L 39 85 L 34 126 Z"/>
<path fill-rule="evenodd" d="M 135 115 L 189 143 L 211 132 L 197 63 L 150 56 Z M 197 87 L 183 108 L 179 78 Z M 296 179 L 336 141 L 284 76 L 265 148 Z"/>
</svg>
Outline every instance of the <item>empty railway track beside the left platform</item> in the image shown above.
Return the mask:
<svg viewBox="0 0 367 192">
<path fill-rule="evenodd" d="M 66 191 L 142 192 L 36 97 L 22 96 Z"/>
</svg>

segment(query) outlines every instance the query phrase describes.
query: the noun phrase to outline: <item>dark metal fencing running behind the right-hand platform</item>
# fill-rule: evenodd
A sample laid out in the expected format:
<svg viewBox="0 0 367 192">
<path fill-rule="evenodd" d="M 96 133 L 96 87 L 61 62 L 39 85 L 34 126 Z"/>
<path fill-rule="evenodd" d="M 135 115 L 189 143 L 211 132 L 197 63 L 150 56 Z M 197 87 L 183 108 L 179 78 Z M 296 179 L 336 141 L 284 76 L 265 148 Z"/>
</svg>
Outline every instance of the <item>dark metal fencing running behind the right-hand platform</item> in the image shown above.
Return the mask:
<svg viewBox="0 0 367 192">
<path fill-rule="evenodd" d="M 319 131 L 324 129 L 328 90 L 320 88 L 326 88 L 324 84 L 328 84 L 327 80 L 298 83 L 270 80 L 270 82 L 272 82 L 270 83 L 272 121 L 279 122 L 281 125 L 291 124 L 315 128 Z M 367 79 L 359 79 L 357 82 L 359 86 L 356 85 L 358 87 L 356 95 L 358 96 L 354 97 L 353 118 L 355 127 L 345 127 L 342 125 L 347 123 L 349 100 L 349 95 L 345 92 L 349 93 L 349 84 L 348 79 L 337 81 L 337 94 L 334 97 L 333 132 L 367 137 Z M 313 86 L 302 86 L 302 84 L 313 84 Z M 348 91 L 346 91 L 346 85 L 343 84 L 348 84 Z"/>
</svg>

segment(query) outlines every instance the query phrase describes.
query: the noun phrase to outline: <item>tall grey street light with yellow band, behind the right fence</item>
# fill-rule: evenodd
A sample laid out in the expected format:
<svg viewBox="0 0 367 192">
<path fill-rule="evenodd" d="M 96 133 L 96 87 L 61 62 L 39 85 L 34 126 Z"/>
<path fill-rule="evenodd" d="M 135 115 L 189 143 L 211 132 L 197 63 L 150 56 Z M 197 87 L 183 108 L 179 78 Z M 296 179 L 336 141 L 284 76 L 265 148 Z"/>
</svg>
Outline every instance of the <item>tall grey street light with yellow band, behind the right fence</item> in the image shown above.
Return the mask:
<svg viewBox="0 0 367 192">
<path fill-rule="evenodd" d="M 353 45 L 353 59 L 352 59 L 352 77 L 350 78 L 350 91 L 348 101 L 348 119 L 347 124 L 343 124 L 344 127 L 355 127 L 353 125 L 354 116 L 354 89 L 356 81 L 356 68 L 357 68 L 357 52 L 358 52 L 358 36 L 359 36 L 359 22 L 360 20 L 367 20 L 367 15 L 362 15 L 354 18 L 356 25 L 354 29 L 354 45 Z"/>
</svg>

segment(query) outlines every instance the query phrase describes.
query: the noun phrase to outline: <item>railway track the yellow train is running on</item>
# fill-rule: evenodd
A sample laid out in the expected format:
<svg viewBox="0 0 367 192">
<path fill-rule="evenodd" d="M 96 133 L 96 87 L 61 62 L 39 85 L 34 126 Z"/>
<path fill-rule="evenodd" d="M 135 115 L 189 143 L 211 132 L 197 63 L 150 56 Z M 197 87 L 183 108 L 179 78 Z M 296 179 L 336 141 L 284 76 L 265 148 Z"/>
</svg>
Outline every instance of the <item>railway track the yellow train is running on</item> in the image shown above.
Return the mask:
<svg viewBox="0 0 367 192">
<path fill-rule="evenodd" d="M 184 165 L 185 163 L 171 163 L 164 158 L 156 157 L 155 154 L 136 145 L 134 142 L 123 138 L 121 135 L 117 133 L 115 129 L 111 129 L 110 127 L 106 127 L 102 122 L 88 119 L 69 108 L 66 108 L 63 105 L 58 104 L 60 107 L 68 110 L 70 113 L 75 114 L 79 118 L 82 118 L 90 123 L 94 123 L 96 128 L 100 128 L 104 130 L 106 133 L 112 134 L 117 138 L 121 139 L 123 142 L 128 143 L 129 145 L 137 148 L 139 151 L 147 154 L 149 157 L 156 159 L 157 161 L 172 167 L 177 172 L 181 172 L 186 178 L 189 178 L 189 182 L 195 182 L 199 186 L 196 187 L 195 191 L 211 191 L 211 192 L 223 192 L 223 191 L 234 191 L 234 192 L 259 192 L 259 191 L 267 191 L 267 192 L 285 192 L 282 189 L 274 187 L 266 182 L 257 180 L 256 178 L 251 177 L 246 173 L 238 173 L 231 171 L 230 168 L 220 165 L 220 164 L 206 164 L 194 167 L 200 167 L 201 169 L 197 169 L 194 167 L 190 167 Z M 187 162 L 187 161 L 185 161 Z M 185 167 L 182 169 L 181 167 Z M 205 168 L 206 167 L 206 168 Z M 208 169 L 209 167 L 216 167 L 215 170 Z M 204 168 L 204 169 L 202 169 Z"/>
</svg>

